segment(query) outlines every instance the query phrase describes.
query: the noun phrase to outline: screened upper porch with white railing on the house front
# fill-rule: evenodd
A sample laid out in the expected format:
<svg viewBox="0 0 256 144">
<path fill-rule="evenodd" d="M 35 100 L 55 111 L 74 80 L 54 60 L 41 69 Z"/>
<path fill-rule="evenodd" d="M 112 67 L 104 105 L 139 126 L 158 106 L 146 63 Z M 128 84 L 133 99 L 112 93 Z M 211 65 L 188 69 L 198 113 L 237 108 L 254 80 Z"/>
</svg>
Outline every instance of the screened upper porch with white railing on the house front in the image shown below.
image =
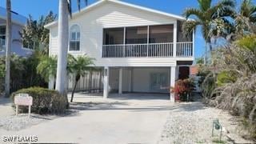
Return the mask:
<svg viewBox="0 0 256 144">
<path fill-rule="evenodd" d="M 102 58 L 193 57 L 193 34 L 185 37 L 181 27 L 178 22 L 104 29 Z"/>
</svg>

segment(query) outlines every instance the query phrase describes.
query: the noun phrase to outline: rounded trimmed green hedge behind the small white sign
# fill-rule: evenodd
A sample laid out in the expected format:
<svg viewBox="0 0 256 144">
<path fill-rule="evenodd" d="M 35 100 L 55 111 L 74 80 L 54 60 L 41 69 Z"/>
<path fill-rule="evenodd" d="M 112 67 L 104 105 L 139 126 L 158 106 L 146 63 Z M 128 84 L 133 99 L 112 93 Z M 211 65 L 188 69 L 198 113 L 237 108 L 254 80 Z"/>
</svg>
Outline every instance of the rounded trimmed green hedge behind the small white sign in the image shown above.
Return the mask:
<svg viewBox="0 0 256 144">
<path fill-rule="evenodd" d="M 29 94 L 33 97 L 31 112 L 35 114 L 59 114 L 66 110 L 66 98 L 58 94 L 56 90 L 48 90 L 41 87 L 30 87 L 22 89 L 11 94 L 11 100 L 14 102 L 14 96 L 19 93 Z M 19 106 L 19 112 L 27 113 L 28 106 Z"/>
</svg>

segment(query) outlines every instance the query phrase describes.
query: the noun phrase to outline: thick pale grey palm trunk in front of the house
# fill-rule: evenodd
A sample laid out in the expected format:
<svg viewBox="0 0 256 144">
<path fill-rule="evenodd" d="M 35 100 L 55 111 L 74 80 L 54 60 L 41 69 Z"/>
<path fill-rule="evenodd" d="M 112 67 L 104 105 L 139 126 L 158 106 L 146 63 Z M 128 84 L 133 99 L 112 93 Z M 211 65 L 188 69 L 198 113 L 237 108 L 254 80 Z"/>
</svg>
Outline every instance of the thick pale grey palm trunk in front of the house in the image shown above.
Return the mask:
<svg viewBox="0 0 256 144">
<path fill-rule="evenodd" d="M 63 96 L 66 94 L 66 66 L 69 42 L 69 18 L 68 4 L 66 0 L 59 0 L 58 7 L 58 66 L 56 78 L 56 90 Z"/>
</svg>

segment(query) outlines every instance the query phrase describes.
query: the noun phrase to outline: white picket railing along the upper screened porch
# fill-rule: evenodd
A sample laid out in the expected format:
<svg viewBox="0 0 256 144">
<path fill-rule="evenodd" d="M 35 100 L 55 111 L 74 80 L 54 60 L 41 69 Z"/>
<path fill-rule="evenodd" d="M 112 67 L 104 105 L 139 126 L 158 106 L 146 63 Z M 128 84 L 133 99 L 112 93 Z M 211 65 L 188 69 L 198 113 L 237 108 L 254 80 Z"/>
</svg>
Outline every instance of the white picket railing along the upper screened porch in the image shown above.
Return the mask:
<svg viewBox="0 0 256 144">
<path fill-rule="evenodd" d="M 177 57 L 192 57 L 193 43 L 178 42 Z M 102 58 L 174 57 L 174 43 L 103 45 Z"/>
</svg>

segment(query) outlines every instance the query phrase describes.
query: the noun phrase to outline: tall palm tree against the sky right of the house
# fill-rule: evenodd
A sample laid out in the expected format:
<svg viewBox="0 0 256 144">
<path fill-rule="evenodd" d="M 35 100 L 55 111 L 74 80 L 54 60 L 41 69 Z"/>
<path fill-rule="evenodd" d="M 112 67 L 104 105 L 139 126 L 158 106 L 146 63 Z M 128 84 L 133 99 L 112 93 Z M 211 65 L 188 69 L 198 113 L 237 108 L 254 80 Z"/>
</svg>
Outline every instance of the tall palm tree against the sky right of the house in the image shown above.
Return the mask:
<svg viewBox="0 0 256 144">
<path fill-rule="evenodd" d="M 212 50 L 211 35 L 212 29 L 211 22 L 214 19 L 222 18 L 223 22 L 229 24 L 227 16 L 234 13 L 234 0 L 221 0 L 217 4 L 212 4 L 212 0 L 198 0 L 199 8 L 188 8 L 185 10 L 184 15 L 186 18 L 194 18 L 194 20 L 187 20 L 183 24 L 183 30 L 186 34 L 191 34 L 196 27 L 201 26 L 202 36 L 206 41 L 206 54 L 207 46 Z M 214 34 L 217 32 L 214 31 Z M 206 64 L 206 54 L 204 62 Z"/>
</svg>

